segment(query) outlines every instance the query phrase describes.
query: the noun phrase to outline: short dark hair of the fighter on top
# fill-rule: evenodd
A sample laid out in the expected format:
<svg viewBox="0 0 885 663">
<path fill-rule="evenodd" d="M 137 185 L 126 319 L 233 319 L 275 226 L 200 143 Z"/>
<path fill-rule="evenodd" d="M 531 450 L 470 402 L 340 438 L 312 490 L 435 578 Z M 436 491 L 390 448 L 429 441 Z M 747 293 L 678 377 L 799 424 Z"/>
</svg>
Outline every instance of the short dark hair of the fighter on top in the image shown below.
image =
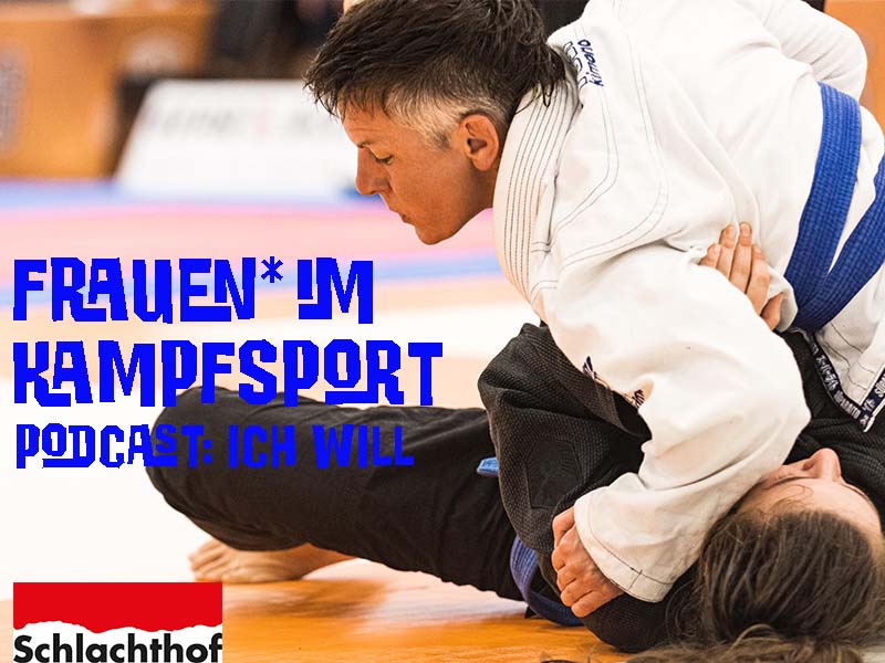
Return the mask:
<svg viewBox="0 0 885 663">
<path fill-rule="evenodd" d="M 333 28 L 306 82 L 333 115 L 378 108 L 445 144 L 469 113 L 506 130 L 527 93 L 548 99 L 564 77 L 530 0 L 364 0 Z"/>
</svg>

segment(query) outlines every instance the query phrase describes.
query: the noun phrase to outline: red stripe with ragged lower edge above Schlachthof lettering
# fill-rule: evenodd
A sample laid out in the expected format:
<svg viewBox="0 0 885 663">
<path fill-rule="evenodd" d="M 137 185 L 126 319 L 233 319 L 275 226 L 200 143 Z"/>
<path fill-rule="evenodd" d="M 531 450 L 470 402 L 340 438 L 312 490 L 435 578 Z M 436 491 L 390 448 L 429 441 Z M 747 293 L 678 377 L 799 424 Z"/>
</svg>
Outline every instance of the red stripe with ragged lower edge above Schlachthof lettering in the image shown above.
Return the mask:
<svg viewBox="0 0 885 663">
<path fill-rule="evenodd" d="M 60 621 L 93 633 L 221 624 L 220 582 L 15 582 L 15 629 Z"/>
</svg>

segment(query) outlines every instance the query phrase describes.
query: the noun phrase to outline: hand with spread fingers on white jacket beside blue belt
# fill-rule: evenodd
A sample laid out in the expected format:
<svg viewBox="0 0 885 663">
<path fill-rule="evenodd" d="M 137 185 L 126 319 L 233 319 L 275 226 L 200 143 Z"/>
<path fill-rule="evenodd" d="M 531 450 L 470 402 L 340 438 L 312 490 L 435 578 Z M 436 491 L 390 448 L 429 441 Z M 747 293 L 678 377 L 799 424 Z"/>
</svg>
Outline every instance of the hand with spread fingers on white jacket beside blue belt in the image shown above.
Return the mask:
<svg viewBox="0 0 885 663">
<path fill-rule="evenodd" d="M 725 275 L 731 284 L 749 297 L 757 315 L 761 315 L 769 329 L 774 329 L 781 322 L 781 304 L 783 293 L 768 299 L 768 286 L 771 282 L 768 263 L 762 249 L 753 244 L 752 229 L 747 223 L 740 224 L 740 233 L 729 225 L 719 234 L 719 243 L 707 250 L 700 261 L 707 267 L 714 267 Z"/>
</svg>

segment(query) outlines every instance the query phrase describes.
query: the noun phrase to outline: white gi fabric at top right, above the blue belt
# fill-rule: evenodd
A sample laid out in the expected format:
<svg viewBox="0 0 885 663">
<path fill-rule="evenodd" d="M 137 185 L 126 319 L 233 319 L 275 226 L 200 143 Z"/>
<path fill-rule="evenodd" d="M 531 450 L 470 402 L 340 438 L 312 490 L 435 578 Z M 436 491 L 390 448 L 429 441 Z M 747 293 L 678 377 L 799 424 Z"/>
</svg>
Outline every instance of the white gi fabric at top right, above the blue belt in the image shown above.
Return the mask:
<svg viewBox="0 0 885 663">
<path fill-rule="evenodd" d="M 811 65 L 814 77 L 861 98 L 866 51 L 857 33 L 802 0 L 736 0 L 754 13 L 788 57 Z"/>
</svg>

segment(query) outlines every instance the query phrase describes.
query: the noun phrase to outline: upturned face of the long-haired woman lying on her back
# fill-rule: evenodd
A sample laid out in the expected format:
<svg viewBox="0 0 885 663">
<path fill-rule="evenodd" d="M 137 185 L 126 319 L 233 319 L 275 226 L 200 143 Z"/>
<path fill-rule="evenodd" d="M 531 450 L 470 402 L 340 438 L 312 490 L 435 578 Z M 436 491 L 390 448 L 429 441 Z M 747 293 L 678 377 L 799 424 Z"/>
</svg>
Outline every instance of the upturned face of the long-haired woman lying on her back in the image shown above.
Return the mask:
<svg viewBox="0 0 885 663">
<path fill-rule="evenodd" d="M 773 513 L 779 505 L 833 512 L 868 533 L 872 540 L 883 541 L 878 511 L 863 491 L 842 478 L 842 466 L 832 449 L 768 474 L 747 493 L 738 511 Z"/>
</svg>

